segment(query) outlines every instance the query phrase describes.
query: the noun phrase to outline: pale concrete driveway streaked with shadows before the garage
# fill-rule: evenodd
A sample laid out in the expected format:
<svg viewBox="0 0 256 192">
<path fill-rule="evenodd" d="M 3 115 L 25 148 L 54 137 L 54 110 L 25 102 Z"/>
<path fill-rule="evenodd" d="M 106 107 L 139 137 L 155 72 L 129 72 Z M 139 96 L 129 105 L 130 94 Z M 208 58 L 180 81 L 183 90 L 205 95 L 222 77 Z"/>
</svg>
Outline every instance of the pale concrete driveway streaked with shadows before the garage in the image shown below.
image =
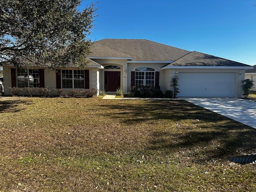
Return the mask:
<svg viewBox="0 0 256 192">
<path fill-rule="evenodd" d="M 252 128 L 256 128 L 256 102 L 239 98 L 182 98 Z"/>
</svg>

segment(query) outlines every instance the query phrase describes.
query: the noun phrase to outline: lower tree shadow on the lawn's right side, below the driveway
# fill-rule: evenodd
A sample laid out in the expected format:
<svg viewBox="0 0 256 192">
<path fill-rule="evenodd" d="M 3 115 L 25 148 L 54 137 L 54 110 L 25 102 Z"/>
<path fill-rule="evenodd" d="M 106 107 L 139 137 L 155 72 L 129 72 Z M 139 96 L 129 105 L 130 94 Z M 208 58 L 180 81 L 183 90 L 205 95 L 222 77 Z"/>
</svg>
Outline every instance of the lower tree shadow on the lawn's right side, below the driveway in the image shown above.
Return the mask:
<svg viewBox="0 0 256 192">
<path fill-rule="evenodd" d="M 188 153 L 195 162 L 213 159 L 228 160 L 230 156 L 256 153 L 256 131 L 241 124 L 241 128 L 233 129 L 226 125 L 211 130 L 180 132 L 173 134 L 166 131 L 153 132 L 149 140 L 149 150 L 163 150 Z"/>
</svg>

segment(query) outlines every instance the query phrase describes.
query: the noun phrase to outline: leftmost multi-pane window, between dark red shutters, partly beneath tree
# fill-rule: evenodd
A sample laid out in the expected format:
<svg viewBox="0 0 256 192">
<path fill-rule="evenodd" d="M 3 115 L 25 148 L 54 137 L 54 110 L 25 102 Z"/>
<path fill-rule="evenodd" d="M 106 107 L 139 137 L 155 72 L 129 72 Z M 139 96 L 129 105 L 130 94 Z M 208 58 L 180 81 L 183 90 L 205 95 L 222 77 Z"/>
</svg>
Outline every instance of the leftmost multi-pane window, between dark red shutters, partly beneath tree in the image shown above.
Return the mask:
<svg viewBox="0 0 256 192">
<path fill-rule="evenodd" d="M 40 70 L 39 69 L 17 69 L 18 87 L 32 88 L 40 87 Z"/>
</svg>

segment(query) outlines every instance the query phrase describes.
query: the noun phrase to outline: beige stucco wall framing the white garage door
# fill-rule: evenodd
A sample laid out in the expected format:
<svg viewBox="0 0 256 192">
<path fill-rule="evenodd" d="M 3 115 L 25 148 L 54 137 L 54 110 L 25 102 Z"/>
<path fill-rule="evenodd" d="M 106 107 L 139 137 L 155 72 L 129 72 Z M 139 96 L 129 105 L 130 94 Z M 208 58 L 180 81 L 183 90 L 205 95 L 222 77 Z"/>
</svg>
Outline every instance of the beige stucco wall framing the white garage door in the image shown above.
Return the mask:
<svg viewBox="0 0 256 192">
<path fill-rule="evenodd" d="M 235 87 L 234 87 L 234 97 L 241 97 L 242 92 L 242 80 L 244 80 L 245 70 L 243 69 L 182 69 L 182 68 L 174 68 L 174 69 L 166 69 L 166 78 L 165 78 L 165 86 L 166 89 L 173 90 L 171 86 L 171 79 L 175 76 L 176 72 L 220 72 L 220 73 L 234 73 L 235 74 Z M 169 85 L 169 88 L 168 88 Z"/>
</svg>

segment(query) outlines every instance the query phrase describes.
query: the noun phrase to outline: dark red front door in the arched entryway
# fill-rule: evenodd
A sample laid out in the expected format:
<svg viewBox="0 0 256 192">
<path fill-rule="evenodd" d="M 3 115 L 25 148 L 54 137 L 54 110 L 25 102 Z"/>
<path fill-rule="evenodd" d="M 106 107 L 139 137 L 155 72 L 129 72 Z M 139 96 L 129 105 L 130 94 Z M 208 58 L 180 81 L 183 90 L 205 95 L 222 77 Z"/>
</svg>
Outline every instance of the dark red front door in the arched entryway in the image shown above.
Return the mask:
<svg viewBox="0 0 256 192">
<path fill-rule="evenodd" d="M 116 91 L 120 88 L 120 71 L 105 71 L 105 91 Z"/>
</svg>

